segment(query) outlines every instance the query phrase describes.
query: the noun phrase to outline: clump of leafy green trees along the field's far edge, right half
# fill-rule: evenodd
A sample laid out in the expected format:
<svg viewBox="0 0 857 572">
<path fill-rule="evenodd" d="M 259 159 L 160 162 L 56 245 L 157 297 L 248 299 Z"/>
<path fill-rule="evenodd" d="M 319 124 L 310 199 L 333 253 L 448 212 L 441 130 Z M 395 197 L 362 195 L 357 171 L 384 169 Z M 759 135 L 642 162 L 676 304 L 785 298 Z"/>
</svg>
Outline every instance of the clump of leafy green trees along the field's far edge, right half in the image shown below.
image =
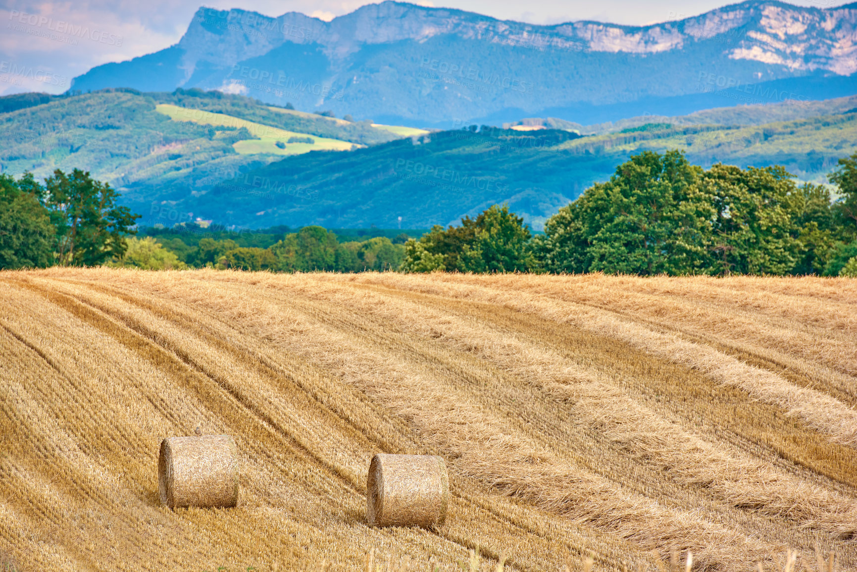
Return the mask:
<svg viewBox="0 0 857 572">
<path fill-rule="evenodd" d="M 857 276 L 857 154 L 830 183 L 836 200 L 782 166 L 704 170 L 647 151 L 560 208 L 543 235 L 494 206 L 405 244 L 402 270 Z"/>
</svg>

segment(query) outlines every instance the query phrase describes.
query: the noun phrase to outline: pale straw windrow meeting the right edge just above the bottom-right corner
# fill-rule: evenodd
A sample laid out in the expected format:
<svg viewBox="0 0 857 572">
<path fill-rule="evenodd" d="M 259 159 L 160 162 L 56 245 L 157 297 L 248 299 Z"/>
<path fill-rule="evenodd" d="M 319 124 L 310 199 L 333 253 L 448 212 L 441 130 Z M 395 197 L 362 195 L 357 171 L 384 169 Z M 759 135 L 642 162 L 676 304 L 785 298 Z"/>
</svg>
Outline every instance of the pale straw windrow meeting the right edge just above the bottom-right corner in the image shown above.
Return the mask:
<svg viewBox="0 0 857 572">
<path fill-rule="evenodd" d="M 339 312 L 348 295 L 346 292 L 330 292 L 325 296 L 324 290 L 319 288 L 314 288 L 313 292 L 316 298 L 313 301 L 320 304 L 321 308 L 328 307 L 326 300 L 329 302 L 335 298 L 340 306 Z M 540 349 L 534 351 L 533 347 L 508 337 L 482 335 L 474 338 L 473 330 L 476 328 L 468 329 L 463 316 L 449 316 L 446 308 L 432 314 L 414 304 L 405 307 L 403 304 L 391 304 L 389 300 L 382 303 L 380 299 L 367 298 L 364 292 L 352 296 L 357 303 L 351 301 L 351 305 L 357 305 L 353 310 L 356 315 L 362 316 L 363 328 L 380 332 L 383 328 L 381 324 L 398 323 L 405 332 L 421 335 L 423 339 L 444 340 L 462 351 L 476 352 L 494 360 L 500 367 L 511 369 L 517 375 L 523 373 L 528 382 L 536 382 L 536 385 L 548 389 L 545 398 L 566 401 L 571 397 L 572 401 L 577 401 L 570 411 L 572 416 L 578 418 L 576 423 L 589 424 L 596 431 L 604 432 L 632 457 L 662 465 L 671 479 L 685 480 L 689 485 L 703 487 L 708 494 L 713 493 L 736 508 L 751 509 L 771 517 L 785 516 L 802 525 L 822 528 L 837 535 L 848 535 L 854 527 L 857 512 L 853 498 L 837 496 L 817 486 L 807 485 L 787 473 L 772 472 L 769 467 L 754 461 L 733 458 L 710 443 L 675 430 L 671 424 L 665 424 L 662 420 L 656 419 L 656 425 L 650 426 L 650 412 L 638 411 L 635 414 L 639 407 L 633 401 L 623 401 L 624 396 L 618 394 L 615 388 L 609 388 L 605 393 L 606 388 L 599 387 L 600 382 L 593 381 L 586 372 L 576 371 L 572 375 L 570 370 L 573 368 L 562 364 L 562 358 L 557 355 L 536 355 Z M 301 307 L 309 306 L 305 298 L 298 304 Z M 378 315 L 376 322 L 369 320 L 368 316 L 373 314 Z M 401 316 L 407 316 L 407 319 Z M 456 328 L 461 330 L 462 327 L 466 330 L 464 334 L 452 331 Z M 483 328 L 476 329 L 477 334 L 484 331 Z M 383 343 L 392 342 L 385 340 Z M 380 346 L 381 342 L 377 345 Z M 412 350 L 417 352 L 417 348 Z M 510 360 L 518 364 L 510 367 Z M 502 363 L 504 361 L 505 364 Z M 561 371 L 558 378 L 557 374 L 549 370 L 553 364 L 562 364 L 559 366 Z M 470 367 L 470 370 L 473 369 Z M 571 382 L 570 385 L 566 379 Z M 614 403 L 617 400 L 622 402 Z M 703 458 L 705 461 L 700 461 Z M 842 513 L 849 506 L 852 514 Z M 809 541 L 806 545 L 811 549 L 813 542 Z"/>
</svg>

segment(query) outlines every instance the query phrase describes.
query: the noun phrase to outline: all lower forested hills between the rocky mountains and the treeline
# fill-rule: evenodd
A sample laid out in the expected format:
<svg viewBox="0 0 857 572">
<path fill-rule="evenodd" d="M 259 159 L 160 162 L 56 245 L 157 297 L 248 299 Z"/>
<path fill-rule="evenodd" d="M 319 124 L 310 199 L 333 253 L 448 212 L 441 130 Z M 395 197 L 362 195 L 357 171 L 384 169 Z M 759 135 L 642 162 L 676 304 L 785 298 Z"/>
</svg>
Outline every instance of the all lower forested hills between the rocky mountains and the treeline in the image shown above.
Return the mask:
<svg viewBox="0 0 857 572">
<path fill-rule="evenodd" d="M 483 128 L 397 140 L 411 132 L 398 129 L 397 135 L 389 126 L 217 92 L 105 90 L 49 99 L 13 97 L 9 106 L 17 109 L 0 112 L 2 172 L 32 171 L 44 178 L 55 168 L 79 167 L 120 190 L 123 203 L 142 214 L 141 223 L 147 225 L 201 217 L 254 228 L 426 228 L 508 202 L 541 228 L 560 206 L 606 180 L 640 150 L 681 149 L 702 166 L 780 164 L 802 179 L 822 182 L 857 143 L 854 112 L 743 126 L 687 125 L 678 117 L 586 136 L 562 129 Z M 818 105 L 841 110 L 845 103 Z M 193 110 L 189 117 L 195 110 L 209 119 L 219 114 L 224 125 L 176 121 L 156 110 L 161 104 Z M 764 106 L 741 112 L 752 109 L 770 115 Z M 242 127 L 246 122 L 363 148 L 284 159 L 273 140 L 248 141 L 255 134 Z"/>
</svg>

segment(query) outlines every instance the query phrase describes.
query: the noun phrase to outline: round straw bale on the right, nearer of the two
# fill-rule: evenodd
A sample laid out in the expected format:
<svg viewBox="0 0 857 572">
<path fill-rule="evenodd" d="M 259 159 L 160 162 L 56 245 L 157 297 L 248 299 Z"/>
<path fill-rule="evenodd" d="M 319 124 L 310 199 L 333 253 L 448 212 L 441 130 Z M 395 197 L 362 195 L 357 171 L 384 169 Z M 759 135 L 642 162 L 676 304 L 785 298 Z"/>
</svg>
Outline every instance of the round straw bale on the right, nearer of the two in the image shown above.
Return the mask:
<svg viewBox="0 0 857 572">
<path fill-rule="evenodd" d="M 433 455 L 375 455 L 366 492 L 370 526 L 440 525 L 449 503 L 446 463 Z"/>
</svg>

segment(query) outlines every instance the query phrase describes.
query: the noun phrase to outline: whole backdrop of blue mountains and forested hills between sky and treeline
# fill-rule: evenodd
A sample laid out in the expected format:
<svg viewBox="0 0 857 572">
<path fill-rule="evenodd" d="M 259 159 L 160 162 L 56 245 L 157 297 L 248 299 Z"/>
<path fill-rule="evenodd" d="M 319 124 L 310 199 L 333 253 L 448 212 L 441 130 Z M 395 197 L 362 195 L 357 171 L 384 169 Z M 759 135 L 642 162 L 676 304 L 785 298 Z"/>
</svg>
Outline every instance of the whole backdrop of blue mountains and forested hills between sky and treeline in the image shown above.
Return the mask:
<svg viewBox="0 0 857 572">
<path fill-rule="evenodd" d="M 644 150 L 823 183 L 854 153 L 855 72 L 857 4 L 646 27 L 202 8 L 177 45 L 0 98 L 0 172 L 79 167 L 143 225 L 425 228 L 506 202 L 539 229 Z"/>
</svg>

